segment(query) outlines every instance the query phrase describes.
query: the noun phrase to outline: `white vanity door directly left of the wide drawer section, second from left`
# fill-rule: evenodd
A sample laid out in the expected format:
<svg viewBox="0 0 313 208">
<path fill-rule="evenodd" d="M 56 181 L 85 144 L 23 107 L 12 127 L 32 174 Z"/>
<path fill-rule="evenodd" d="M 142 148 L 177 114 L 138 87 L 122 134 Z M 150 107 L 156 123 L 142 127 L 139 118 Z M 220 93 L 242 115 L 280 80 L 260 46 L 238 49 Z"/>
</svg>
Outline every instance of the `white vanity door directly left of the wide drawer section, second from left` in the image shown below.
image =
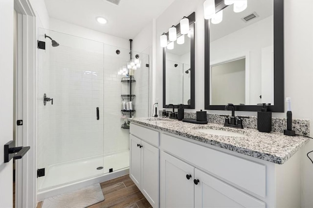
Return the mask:
<svg viewBox="0 0 313 208">
<path fill-rule="evenodd" d="M 158 148 L 141 141 L 141 192 L 152 207 L 158 207 Z"/>
</svg>

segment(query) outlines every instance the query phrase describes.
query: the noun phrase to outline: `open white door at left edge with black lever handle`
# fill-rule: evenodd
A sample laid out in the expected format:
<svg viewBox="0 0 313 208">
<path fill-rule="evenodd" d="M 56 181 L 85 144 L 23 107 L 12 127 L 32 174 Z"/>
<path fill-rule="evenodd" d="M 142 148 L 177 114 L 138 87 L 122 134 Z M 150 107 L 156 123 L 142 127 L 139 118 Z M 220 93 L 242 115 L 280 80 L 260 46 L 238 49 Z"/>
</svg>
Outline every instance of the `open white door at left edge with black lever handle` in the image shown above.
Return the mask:
<svg viewBox="0 0 313 208">
<path fill-rule="evenodd" d="M 13 0 L 0 0 L 0 208 L 13 206 L 13 160 L 4 144 L 13 140 Z"/>
</svg>

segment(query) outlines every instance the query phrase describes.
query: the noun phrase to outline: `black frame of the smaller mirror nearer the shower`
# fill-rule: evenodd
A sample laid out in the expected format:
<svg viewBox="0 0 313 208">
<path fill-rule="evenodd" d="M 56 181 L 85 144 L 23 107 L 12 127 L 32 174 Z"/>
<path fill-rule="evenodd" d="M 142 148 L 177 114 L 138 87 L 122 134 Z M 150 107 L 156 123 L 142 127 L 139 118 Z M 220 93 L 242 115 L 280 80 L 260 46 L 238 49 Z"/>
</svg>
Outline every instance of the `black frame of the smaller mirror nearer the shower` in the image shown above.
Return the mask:
<svg viewBox="0 0 313 208">
<path fill-rule="evenodd" d="M 189 105 L 184 105 L 184 108 L 195 109 L 195 21 L 196 13 L 191 13 L 188 17 L 190 30 L 193 31 L 190 36 L 190 100 Z M 180 33 L 179 24 L 176 25 L 177 33 Z M 167 33 L 168 35 L 168 33 Z M 166 47 L 163 48 L 163 108 L 167 108 L 165 104 L 165 60 Z M 175 108 L 179 108 L 179 104 L 174 104 Z"/>
</svg>

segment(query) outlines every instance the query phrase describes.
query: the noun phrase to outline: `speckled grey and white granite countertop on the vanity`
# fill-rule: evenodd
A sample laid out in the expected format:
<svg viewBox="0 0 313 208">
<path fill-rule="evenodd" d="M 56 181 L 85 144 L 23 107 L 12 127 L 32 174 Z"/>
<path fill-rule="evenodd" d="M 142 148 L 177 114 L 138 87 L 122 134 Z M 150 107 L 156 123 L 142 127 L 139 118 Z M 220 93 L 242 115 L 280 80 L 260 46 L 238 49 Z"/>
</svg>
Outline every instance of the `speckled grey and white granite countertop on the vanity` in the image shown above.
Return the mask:
<svg viewBox="0 0 313 208">
<path fill-rule="evenodd" d="M 294 153 L 309 142 L 309 138 L 302 136 L 291 137 L 283 133 L 263 133 L 256 129 L 236 129 L 217 124 L 198 125 L 168 118 L 151 117 L 129 120 L 132 123 L 145 125 L 276 164 L 285 163 Z M 232 131 L 245 136 L 220 136 L 196 131 L 196 129 L 200 128 Z"/>
</svg>

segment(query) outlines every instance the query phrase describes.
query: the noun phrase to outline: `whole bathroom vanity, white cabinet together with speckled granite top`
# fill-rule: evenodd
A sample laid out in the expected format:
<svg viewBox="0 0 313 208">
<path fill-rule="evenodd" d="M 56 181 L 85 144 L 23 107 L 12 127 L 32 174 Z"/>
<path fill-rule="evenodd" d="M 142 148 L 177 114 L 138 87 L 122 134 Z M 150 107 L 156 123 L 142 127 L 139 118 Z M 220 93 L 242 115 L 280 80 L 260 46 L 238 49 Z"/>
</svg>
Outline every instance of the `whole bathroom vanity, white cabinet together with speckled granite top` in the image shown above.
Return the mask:
<svg viewBox="0 0 313 208">
<path fill-rule="evenodd" d="M 154 208 L 299 208 L 309 140 L 255 129 L 135 118 L 130 177 Z"/>
</svg>

